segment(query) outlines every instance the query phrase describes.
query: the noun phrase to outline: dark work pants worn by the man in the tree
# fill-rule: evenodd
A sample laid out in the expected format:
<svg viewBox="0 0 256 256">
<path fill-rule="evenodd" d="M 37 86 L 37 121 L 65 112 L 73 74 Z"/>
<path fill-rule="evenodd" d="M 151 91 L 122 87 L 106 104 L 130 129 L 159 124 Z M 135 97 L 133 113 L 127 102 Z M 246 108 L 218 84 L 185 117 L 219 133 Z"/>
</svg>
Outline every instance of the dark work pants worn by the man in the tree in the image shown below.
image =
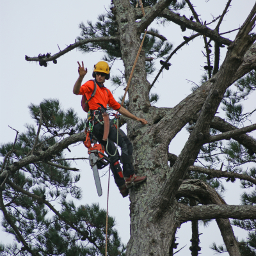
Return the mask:
<svg viewBox="0 0 256 256">
<path fill-rule="evenodd" d="M 109 154 L 113 155 L 115 154 L 116 150 L 116 139 L 117 139 L 117 129 L 116 125 L 114 125 L 113 121 L 110 121 L 110 127 L 109 127 L 109 136 L 108 136 L 108 152 Z M 102 141 L 103 133 L 104 133 L 104 125 L 101 125 L 100 123 L 97 123 L 93 126 L 93 135 L 95 138 L 97 138 L 97 141 L 104 145 L 106 148 L 106 141 Z M 132 164 L 132 143 L 129 141 L 127 136 L 125 135 L 124 131 L 121 129 L 118 129 L 118 146 L 121 148 L 121 157 L 119 155 L 118 150 L 116 151 L 115 156 L 110 156 L 106 150 L 106 153 L 108 154 L 109 160 L 110 160 L 110 168 L 114 175 L 116 186 L 120 187 L 124 185 L 124 178 L 120 176 L 120 172 L 118 171 L 118 168 L 114 165 L 116 161 L 121 159 L 121 162 L 123 164 L 123 174 L 124 177 L 129 177 L 134 173 L 134 167 Z"/>
</svg>

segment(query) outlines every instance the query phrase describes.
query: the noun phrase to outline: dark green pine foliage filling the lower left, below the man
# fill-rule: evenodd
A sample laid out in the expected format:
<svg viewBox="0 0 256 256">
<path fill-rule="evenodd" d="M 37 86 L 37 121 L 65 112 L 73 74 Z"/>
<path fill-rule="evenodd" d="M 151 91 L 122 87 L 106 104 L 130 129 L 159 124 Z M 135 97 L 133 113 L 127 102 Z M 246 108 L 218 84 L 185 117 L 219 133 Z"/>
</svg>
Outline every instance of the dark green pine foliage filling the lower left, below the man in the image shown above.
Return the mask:
<svg viewBox="0 0 256 256">
<path fill-rule="evenodd" d="M 26 131 L 14 143 L 0 147 L 4 157 L 1 170 L 8 176 L 1 180 L 1 210 L 4 230 L 15 236 L 16 242 L 0 245 L 1 255 L 105 255 L 106 211 L 98 204 L 79 205 L 67 200 L 67 195 L 81 199 L 78 169 L 63 156 L 64 148 L 51 151 L 84 129 L 74 109 L 64 111 L 58 100 L 49 99 L 40 105 L 29 105 L 35 125 L 26 124 Z M 36 157 L 10 172 L 10 166 Z M 55 203 L 60 208 L 55 207 Z M 115 220 L 108 217 L 108 255 L 124 255 L 114 228 Z"/>
</svg>

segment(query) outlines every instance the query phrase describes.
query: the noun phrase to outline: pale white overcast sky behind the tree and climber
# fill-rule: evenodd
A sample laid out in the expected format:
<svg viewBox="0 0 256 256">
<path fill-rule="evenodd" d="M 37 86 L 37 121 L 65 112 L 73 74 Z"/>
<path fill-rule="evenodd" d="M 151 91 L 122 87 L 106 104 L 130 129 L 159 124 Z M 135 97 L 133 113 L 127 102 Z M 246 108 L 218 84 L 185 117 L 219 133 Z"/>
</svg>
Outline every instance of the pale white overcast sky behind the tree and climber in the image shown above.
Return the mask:
<svg viewBox="0 0 256 256">
<path fill-rule="evenodd" d="M 81 117 L 84 116 L 80 97 L 72 93 L 73 85 L 78 76 L 77 61 L 83 60 L 85 67 L 88 68 L 89 72 L 84 78 L 84 81 L 87 81 L 92 78 L 93 64 L 97 63 L 103 54 L 100 52 L 82 54 L 75 49 L 61 56 L 57 60 L 57 65 L 50 63 L 47 68 L 40 67 L 35 62 L 29 63 L 25 61 L 25 55 L 37 56 L 39 53 L 46 54 L 47 52 L 55 54 L 59 51 L 58 45 L 62 50 L 67 45 L 73 44 L 76 36 L 80 33 L 79 23 L 81 21 L 85 23 L 86 20 L 95 21 L 97 15 L 105 12 L 105 7 L 108 8 L 108 2 L 103 0 L 0 0 L 0 3 L 1 143 L 13 141 L 15 138 L 15 132 L 8 125 L 22 132 L 25 130 L 24 124 L 32 123 L 28 113 L 30 102 L 39 104 L 43 99 L 59 99 L 63 108 L 74 108 Z M 221 14 L 226 1 L 209 0 L 206 3 L 206 1 L 196 0 L 193 3 L 196 12 L 201 15 L 200 18 L 209 22 L 212 20 L 209 14 L 214 15 L 214 17 Z M 232 1 L 232 8 L 230 8 L 228 15 L 225 16 L 220 32 L 223 33 L 241 26 L 254 3 L 255 1 L 253 0 Z M 191 15 L 188 9 L 185 14 L 186 17 Z M 177 47 L 182 42 L 182 36 L 191 34 L 189 29 L 182 33 L 179 26 L 175 24 L 168 24 L 164 28 L 159 27 L 158 29 L 170 42 L 173 42 L 174 47 Z M 225 36 L 232 40 L 235 35 L 236 33 L 232 33 Z M 201 52 L 203 47 L 203 39 L 196 38 L 196 40 L 189 42 L 188 46 L 183 47 L 178 54 L 173 56 L 170 60 L 170 63 L 173 64 L 172 67 L 170 67 L 169 71 L 164 70 L 163 75 L 158 79 L 159 83 L 155 84 L 155 88 L 152 91 L 160 95 L 159 103 L 156 106 L 173 107 L 191 93 L 191 84 L 186 79 L 195 83 L 200 81 L 200 76 L 203 73 L 202 67 L 205 65 L 205 59 Z M 224 58 L 225 49 L 221 52 L 221 60 Z M 157 61 L 157 70 L 159 67 L 159 61 Z M 121 62 L 115 63 L 111 69 L 111 74 L 118 74 L 117 68 L 122 68 Z M 156 74 L 157 72 L 154 75 Z M 153 79 L 154 76 L 149 77 L 150 81 L 153 81 Z M 106 86 L 113 90 L 110 83 L 106 83 Z M 114 97 L 117 99 L 123 92 L 123 90 L 116 90 Z M 246 107 L 249 106 L 255 108 L 253 100 L 246 102 Z M 186 131 L 180 132 L 172 141 L 170 152 L 179 155 L 186 138 L 188 138 L 188 133 Z M 87 150 L 83 145 L 70 147 L 70 149 L 72 153 L 67 154 L 68 157 L 88 156 Z M 77 202 L 77 205 L 99 202 L 100 206 L 106 209 L 107 177 L 103 177 L 101 180 L 103 195 L 99 198 L 88 162 L 77 161 L 77 168 L 81 169 L 79 186 L 83 188 L 83 199 L 81 202 Z M 239 198 L 238 188 L 239 182 L 228 183 L 228 191 L 225 194 L 228 204 L 240 203 L 237 200 Z M 129 197 L 122 198 L 119 195 L 113 177 L 111 177 L 109 212 L 116 218 L 116 228 L 122 237 L 122 241 L 127 243 L 129 240 Z M 0 216 L 2 218 L 1 214 Z M 180 255 L 190 254 L 190 230 L 190 225 L 182 225 L 177 234 L 179 248 L 187 244 L 186 248 L 180 252 Z M 236 228 L 234 231 L 236 236 L 246 236 L 246 232 L 236 232 Z M 214 252 L 209 250 L 209 245 L 213 241 L 216 241 L 217 244 L 223 243 L 218 227 L 214 224 L 211 224 L 207 229 L 200 226 L 200 232 L 204 233 L 200 236 L 202 242 L 200 245 L 203 247 L 202 255 L 213 255 Z M 1 232 L 0 236 L 3 243 L 12 243 L 13 241 L 13 237 L 4 232 Z"/>
</svg>

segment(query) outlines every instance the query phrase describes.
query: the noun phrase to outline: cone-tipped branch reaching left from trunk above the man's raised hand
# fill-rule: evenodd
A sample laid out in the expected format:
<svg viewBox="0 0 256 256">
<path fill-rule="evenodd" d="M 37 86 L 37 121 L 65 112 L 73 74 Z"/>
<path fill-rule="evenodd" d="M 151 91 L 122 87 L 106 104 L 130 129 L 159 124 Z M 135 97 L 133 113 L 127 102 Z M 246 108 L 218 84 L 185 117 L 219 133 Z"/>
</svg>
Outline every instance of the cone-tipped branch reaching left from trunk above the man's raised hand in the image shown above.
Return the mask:
<svg viewBox="0 0 256 256">
<path fill-rule="evenodd" d="M 72 51 L 73 49 L 76 49 L 77 47 L 79 47 L 80 45 L 83 45 L 83 44 L 88 44 L 88 43 L 92 43 L 92 42 L 115 41 L 115 40 L 119 40 L 119 36 L 102 36 L 102 37 L 86 38 L 86 39 L 80 40 L 79 42 L 76 42 L 75 44 L 68 45 L 68 47 L 65 48 L 63 51 L 60 51 L 60 52 L 50 56 L 49 58 L 42 59 L 42 58 L 38 58 L 38 57 L 25 56 L 25 60 L 26 61 L 48 62 L 48 61 L 52 61 L 52 60 L 56 60 L 56 59 L 60 58 L 60 56 L 64 55 L 65 53 L 67 53 L 69 51 Z"/>
</svg>

